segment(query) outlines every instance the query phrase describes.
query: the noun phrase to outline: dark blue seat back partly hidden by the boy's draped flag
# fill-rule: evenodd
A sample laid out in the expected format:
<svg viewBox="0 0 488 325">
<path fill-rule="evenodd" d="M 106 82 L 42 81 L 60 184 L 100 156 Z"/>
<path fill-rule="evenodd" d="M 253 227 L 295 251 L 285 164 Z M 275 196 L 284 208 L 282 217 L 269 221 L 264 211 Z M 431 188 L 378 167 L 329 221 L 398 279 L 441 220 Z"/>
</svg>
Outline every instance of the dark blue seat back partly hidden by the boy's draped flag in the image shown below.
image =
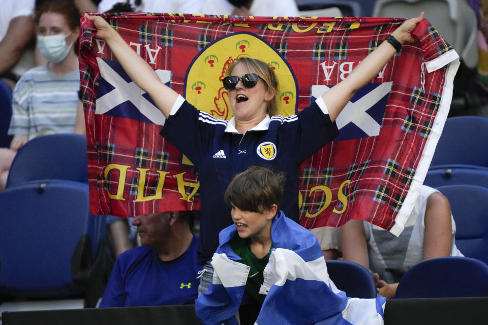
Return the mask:
<svg viewBox="0 0 488 325">
<path fill-rule="evenodd" d="M 344 291 L 348 297 L 376 298 L 376 283 L 362 265 L 341 260 L 327 260 L 327 272 L 338 289 Z"/>
</svg>

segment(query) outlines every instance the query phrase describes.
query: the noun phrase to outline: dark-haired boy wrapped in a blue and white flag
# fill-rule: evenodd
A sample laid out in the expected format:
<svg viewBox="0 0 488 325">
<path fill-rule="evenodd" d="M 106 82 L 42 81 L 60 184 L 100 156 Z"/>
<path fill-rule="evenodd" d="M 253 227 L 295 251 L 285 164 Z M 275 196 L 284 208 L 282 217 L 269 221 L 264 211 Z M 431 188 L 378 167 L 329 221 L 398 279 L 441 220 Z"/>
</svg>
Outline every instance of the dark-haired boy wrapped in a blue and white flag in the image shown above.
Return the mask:
<svg viewBox="0 0 488 325">
<path fill-rule="evenodd" d="M 247 299 L 261 304 L 257 324 L 383 323 L 385 298 L 348 298 L 327 274 L 310 231 L 279 210 L 282 176 L 251 166 L 230 182 L 234 224 L 219 234 L 214 277 L 195 301 L 204 324 L 237 324 Z"/>
</svg>

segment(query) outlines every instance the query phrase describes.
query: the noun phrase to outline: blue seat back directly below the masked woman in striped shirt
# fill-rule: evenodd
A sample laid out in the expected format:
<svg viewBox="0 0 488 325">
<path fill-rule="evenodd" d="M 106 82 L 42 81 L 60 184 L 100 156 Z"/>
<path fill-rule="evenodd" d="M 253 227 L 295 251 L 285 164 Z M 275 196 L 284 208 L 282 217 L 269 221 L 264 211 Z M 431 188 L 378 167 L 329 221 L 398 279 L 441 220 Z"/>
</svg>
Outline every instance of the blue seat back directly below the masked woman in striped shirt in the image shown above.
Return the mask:
<svg viewBox="0 0 488 325">
<path fill-rule="evenodd" d="M 86 137 L 54 134 L 28 141 L 15 155 L 7 186 L 23 182 L 60 179 L 86 183 Z"/>
</svg>

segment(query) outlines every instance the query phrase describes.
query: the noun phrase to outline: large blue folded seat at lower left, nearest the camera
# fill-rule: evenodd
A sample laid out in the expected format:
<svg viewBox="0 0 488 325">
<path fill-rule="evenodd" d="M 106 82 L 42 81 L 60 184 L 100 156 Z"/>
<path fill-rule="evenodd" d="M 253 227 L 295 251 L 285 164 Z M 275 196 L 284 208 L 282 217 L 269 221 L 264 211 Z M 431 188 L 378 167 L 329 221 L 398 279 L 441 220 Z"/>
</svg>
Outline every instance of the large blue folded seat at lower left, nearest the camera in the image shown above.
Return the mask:
<svg viewBox="0 0 488 325">
<path fill-rule="evenodd" d="M 88 184 L 32 181 L 6 188 L 0 211 L 0 296 L 85 295 L 86 306 L 95 307 L 109 261 L 105 216 L 89 213 Z"/>
</svg>

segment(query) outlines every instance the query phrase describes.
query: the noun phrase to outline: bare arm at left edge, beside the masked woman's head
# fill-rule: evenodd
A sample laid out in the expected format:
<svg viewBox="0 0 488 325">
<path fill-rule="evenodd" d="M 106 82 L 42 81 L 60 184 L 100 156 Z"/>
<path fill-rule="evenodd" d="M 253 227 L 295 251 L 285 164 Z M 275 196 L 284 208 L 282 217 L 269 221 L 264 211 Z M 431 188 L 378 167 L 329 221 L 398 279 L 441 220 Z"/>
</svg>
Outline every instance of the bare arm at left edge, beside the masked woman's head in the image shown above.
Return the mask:
<svg viewBox="0 0 488 325">
<path fill-rule="evenodd" d="M 10 21 L 7 34 L 0 42 L 0 75 L 6 73 L 19 60 L 25 46 L 34 36 L 34 19 L 19 16 Z"/>
</svg>

